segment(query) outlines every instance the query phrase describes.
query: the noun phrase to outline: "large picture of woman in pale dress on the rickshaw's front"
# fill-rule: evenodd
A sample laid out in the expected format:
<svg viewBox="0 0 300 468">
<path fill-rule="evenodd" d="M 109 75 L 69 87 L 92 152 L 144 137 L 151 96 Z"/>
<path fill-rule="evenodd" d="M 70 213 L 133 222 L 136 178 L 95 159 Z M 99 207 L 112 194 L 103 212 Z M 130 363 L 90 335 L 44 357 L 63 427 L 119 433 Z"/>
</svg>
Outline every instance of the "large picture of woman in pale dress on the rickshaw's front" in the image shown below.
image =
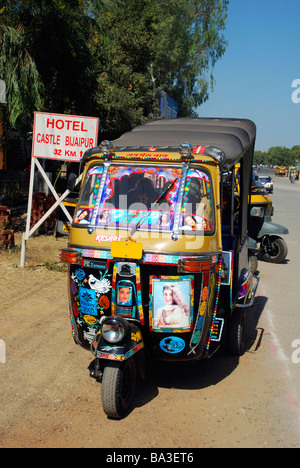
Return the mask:
<svg viewBox="0 0 300 468">
<path fill-rule="evenodd" d="M 191 279 L 153 278 L 153 329 L 190 329 Z"/>
</svg>

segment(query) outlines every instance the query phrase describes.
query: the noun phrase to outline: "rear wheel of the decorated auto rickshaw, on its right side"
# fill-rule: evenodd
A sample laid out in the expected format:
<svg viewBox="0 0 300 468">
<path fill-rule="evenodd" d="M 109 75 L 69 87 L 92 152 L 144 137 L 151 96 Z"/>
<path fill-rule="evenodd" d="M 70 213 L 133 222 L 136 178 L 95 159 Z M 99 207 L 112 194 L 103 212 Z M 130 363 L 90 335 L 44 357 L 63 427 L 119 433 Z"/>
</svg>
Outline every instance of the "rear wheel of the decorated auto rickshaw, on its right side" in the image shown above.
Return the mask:
<svg viewBox="0 0 300 468">
<path fill-rule="evenodd" d="M 234 356 L 242 356 L 246 349 L 246 312 L 235 309 L 231 315 L 228 333 L 229 351 Z"/>
</svg>

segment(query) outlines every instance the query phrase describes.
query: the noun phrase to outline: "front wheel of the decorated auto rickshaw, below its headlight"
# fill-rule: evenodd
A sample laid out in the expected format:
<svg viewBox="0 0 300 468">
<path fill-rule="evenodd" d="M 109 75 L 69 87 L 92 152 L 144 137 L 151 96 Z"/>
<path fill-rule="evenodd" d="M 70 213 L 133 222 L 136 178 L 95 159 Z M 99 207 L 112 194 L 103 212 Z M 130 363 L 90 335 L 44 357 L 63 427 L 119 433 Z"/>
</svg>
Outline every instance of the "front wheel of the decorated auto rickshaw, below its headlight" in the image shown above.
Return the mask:
<svg viewBox="0 0 300 468">
<path fill-rule="evenodd" d="M 108 365 L 102 378 L 102 406 L 109 418 L 123 418 L 131 405 L 136 384 L 134 359 L 125 361 L 120 367 Z"/>
</svg>

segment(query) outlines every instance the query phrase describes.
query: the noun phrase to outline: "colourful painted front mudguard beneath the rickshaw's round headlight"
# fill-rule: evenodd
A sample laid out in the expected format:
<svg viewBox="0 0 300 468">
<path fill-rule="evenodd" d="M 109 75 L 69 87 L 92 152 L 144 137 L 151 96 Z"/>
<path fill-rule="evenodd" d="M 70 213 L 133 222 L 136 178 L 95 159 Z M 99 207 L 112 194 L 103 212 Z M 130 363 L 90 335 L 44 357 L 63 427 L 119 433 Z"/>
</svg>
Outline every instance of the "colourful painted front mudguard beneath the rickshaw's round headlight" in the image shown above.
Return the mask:
<svg viewBox="0 0 300 468">
<path fill-rule="evenodd" d="M 129 323 L 129 331 L 121 343 L 109 343 L 101 336 L 101 332 L 99 334 L 100 338 L 94 347 L 95 357 L 101 360 L 121 363 L 144 348 L 142 334 L 139 328 L 132 323 Z"/>
</svg>

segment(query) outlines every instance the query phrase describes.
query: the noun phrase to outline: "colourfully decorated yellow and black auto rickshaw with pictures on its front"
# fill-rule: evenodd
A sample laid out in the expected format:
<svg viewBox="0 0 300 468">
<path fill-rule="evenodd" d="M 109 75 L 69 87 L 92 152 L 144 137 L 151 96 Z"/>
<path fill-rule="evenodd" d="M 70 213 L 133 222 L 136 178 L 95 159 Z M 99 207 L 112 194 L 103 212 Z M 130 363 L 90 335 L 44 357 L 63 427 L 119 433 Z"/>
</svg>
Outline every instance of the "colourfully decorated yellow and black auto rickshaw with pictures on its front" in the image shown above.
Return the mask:
<svg viewBox="0 0 300 468">
<path fill-rule="evenodd" d="M 110 418 L 126 416 L 145 363 L 245 350 L 259 277 L 248 263 L 256 128 L 249 120 L 163 119 L 86 151 L 62 260 L 73 337 L 90 349 Z M 188 142 L 188 143 L 187 143 Z M 234 174 L 240 193 L 234 203 Z"/>
</svg>

